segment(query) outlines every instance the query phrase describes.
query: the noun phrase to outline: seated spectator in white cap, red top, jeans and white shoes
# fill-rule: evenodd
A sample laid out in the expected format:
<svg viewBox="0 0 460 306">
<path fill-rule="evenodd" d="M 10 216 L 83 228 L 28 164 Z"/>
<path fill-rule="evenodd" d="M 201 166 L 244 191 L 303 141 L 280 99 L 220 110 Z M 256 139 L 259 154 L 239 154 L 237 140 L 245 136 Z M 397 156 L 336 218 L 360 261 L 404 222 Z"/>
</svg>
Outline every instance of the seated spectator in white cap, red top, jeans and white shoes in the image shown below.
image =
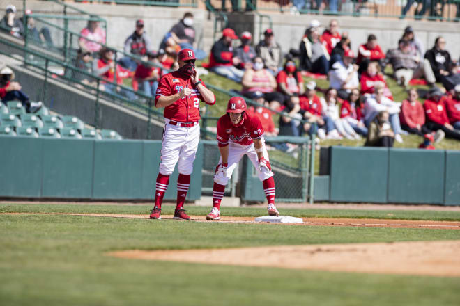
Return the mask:
<svg viewBox="0 0 460 306">
<path fill-rule="evenodd" d="M 339 132 L 335 129 L 334 122 L 327 115 L 323 116 L 323 108 L 321 100 L 316 95 L 316 83 L 309 81 L 305 85 L 305 95 L 300 97 L 300 109 L 303 111 L 302 115 L 308 123 L 305 123 L 303 129 L 309 131 L 311 125 L 316 123 L 320 129 L 318 136 L 321 139 L 340 139 Z"/>
</svg>

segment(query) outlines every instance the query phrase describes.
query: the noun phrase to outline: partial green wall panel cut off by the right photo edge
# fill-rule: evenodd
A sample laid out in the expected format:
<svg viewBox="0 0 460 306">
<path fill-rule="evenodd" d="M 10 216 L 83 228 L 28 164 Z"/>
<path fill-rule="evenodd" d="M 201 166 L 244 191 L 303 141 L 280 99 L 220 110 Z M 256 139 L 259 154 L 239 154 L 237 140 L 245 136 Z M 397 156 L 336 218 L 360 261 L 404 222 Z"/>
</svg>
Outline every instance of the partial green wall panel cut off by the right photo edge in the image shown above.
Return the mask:
<svg viewBox="0 0 460 306">
<path fill-rule="evenodd" d="M 460 205 L 460 152 L 445 152 L 445 198 L 446 205 Z"/>
</svg>

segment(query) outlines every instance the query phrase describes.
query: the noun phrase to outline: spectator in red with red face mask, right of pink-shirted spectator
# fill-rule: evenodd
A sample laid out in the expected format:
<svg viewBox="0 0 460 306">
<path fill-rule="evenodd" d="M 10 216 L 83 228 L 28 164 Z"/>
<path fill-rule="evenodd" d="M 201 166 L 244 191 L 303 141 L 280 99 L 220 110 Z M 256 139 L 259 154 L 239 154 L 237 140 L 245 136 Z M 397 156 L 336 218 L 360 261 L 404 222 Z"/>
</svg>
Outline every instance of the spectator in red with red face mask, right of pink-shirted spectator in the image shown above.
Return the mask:
<svg viewBox="0 0 460 306">
<path fill-rule="evenodd" d="M 302 75 L 297 70 L 296 62 L 292 59 L 287 59 L 286 63 L 284 63 L 284 69 L 278 73 L 276 81 L 278 91 L 284 94 L 284 102 L 290 101 L 292 104 L 299 104 L 299 96 L 303 95 L 305 88 Z"/>
</svg>

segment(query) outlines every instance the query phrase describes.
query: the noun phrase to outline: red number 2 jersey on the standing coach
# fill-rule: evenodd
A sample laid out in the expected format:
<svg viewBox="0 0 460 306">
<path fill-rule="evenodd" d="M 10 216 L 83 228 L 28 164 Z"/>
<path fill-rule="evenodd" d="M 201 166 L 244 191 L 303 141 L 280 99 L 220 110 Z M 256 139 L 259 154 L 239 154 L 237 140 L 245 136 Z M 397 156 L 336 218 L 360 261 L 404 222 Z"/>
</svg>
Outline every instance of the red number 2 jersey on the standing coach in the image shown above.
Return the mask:
<svg viewBox="0 0 460 306">
<path fill-rule="evenodd" d="M 202 84 L 206 87 L 203 82 Z M 177 122 L 197 122 L 200 118 L 199 100 L 204 101 L 204 99 L 201 97 L 198 88 L 192 83 L 192 79 L 190 77 L 183 77 L 177 71 L 164 74 L 160 79 L 155 95 L 155 106 L 161 96 L 175 95 L 177 92 L 183 90 L 183 88 L 190 88 L 192 95 L 178 99 L 173 104 L 166 106 L 163 111 L 164 118 Z"/>
</svg>

